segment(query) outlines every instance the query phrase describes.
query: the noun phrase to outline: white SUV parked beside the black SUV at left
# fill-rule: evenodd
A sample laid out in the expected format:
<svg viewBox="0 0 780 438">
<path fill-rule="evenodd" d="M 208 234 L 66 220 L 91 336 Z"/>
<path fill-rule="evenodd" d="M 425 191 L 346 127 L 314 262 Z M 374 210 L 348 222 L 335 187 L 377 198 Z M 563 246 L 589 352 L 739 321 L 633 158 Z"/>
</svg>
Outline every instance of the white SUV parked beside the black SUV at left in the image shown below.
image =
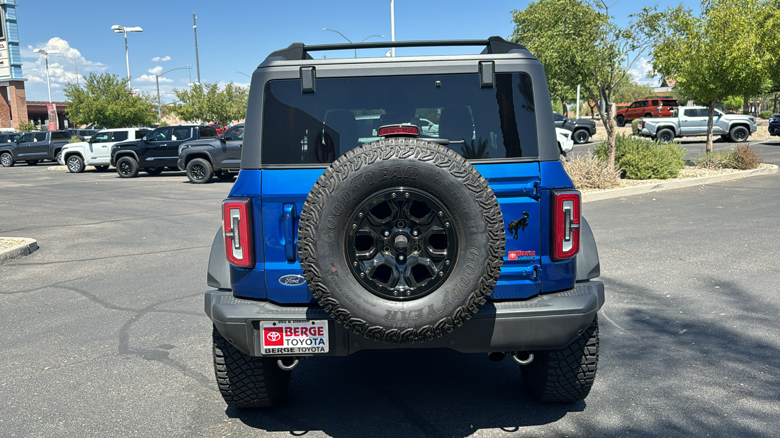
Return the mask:
<svg viewBox="0 0 780 438">
<path fill-rule="evenodd" d="M 108 170 L 111 162 L 111 147 L 123 141 L 137 140 L 154 128 L 103 129 L 96 132 L 90 140 L 68 143 L 62 148 L 59 164 L 67 164 L 68 170 L 81 173 L 87 166 L 99 171 Z"/>
</svg>

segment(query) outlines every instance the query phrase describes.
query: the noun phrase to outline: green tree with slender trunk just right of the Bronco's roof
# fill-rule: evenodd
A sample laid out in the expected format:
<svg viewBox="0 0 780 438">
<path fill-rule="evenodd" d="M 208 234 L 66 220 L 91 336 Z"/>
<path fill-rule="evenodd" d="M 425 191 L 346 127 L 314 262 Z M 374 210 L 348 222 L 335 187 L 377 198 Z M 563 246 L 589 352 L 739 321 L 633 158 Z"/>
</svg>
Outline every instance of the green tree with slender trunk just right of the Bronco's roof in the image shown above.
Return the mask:
<svg viewBox="0 0 780 438">
<path fill-rule="evenodd" d="M 551 90 L 558 83 L 582 86 L 591 101 L 601 102 L 598 114 L 607 133 L 607 157 L 615 168 L 615 88 L 654 41 L 651 30 L 661 18 L 642 9 L 626 27 L 616 26 L 590 0 L 537 0 L 512 11 L 512 41 L 525 44 L 544 65 Z"/>
</svg>

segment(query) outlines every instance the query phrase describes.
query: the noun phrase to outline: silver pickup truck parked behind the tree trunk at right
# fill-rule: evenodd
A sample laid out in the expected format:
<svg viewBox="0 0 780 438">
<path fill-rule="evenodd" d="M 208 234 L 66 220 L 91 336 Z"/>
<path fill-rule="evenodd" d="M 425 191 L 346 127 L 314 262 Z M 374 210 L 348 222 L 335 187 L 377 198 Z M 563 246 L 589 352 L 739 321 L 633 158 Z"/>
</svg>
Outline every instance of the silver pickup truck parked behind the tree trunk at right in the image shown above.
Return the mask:
<svg viewBox="0 0 780 438">
<path fill-rule="evenodd" d="M 747 140 L 756 132 L 756 118 L 752 115 L 725 114 L 717 109 L 712 118 L 712 134 L 735 143 Z M 675 137 L 706 136 L 707 108 L 679 107 L 672 117 L 642 118 L 640 136 L 650 136 L 668 143 Z"/>
</svg>

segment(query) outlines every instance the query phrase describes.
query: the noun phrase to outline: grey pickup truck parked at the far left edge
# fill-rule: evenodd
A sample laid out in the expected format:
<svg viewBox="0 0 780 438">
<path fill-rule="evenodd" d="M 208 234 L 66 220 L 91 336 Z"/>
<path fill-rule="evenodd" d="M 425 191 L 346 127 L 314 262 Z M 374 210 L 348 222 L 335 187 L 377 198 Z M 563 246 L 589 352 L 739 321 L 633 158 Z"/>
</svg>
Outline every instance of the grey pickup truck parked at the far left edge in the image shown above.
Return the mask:
<svg viewBox="0 0 780 438">
<path fill-rule="evenodd" d="M 59 161 L 62 147 L 70 141 L 67 131 L 25 132 L 16 143 L 0 145 L 0 164 L 8 168 L 16 161 L 34 166 L 44 160 Z"/>
</svg>

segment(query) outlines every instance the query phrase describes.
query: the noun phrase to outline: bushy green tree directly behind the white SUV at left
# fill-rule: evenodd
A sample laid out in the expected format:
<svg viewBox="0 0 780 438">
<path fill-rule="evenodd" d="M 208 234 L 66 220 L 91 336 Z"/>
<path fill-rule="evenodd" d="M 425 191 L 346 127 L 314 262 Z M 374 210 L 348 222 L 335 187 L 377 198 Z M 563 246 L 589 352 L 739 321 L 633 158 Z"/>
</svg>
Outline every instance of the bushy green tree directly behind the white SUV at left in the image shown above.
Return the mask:
<svg viewBox="0 0 780 438">
<path fill-rule="evenodd" d="M 66 115 L 76 125 L 95 123 L 106 128 L 121 128 L 157 122 L 151 96 L 133 96 L 126 79 L 116 75 L 90 72 L 81 87 L 68 83 L 62 91 L 68 104 Z"/>
</svg>

